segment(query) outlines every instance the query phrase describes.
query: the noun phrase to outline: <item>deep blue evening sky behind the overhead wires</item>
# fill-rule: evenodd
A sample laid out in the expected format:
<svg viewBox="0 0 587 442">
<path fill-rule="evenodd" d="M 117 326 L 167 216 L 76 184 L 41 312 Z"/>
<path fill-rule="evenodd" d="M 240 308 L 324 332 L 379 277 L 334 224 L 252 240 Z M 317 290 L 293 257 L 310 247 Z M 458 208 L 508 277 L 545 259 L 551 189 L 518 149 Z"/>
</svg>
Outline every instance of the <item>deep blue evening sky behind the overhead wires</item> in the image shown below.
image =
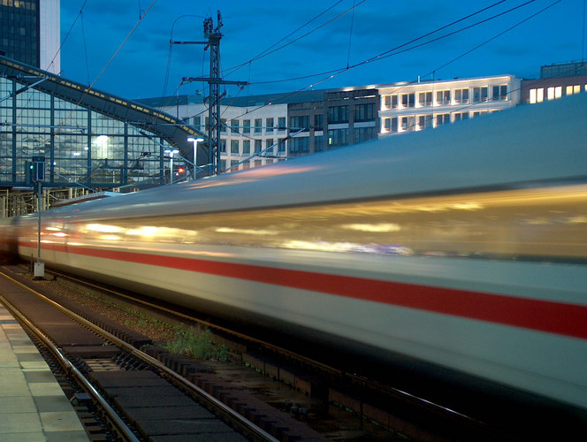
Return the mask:
<svg viewBox="0 0 587 442">
<path fill-rule="evenodd" d="M 208 74 L 209 52 L 202 45 L 173 45 L 170 51 L 170 40 L 202 41 L 203 19 L 211 17 L 216 26 L 219 10 L 225 80 L 252 83 L 242 91 L 226 87 L 229 96 L 430 79 L 431 72 L 445 80 L 507 73 L 536 78 L 541 65 L 585 57 L 584 4 L 61 0 L 61 68 L 66 78 L 131 99 L 205 91 L 202 83 L 180 82 Z M 275 51 L 249 63 L 268 48 Z"/>
</svg>

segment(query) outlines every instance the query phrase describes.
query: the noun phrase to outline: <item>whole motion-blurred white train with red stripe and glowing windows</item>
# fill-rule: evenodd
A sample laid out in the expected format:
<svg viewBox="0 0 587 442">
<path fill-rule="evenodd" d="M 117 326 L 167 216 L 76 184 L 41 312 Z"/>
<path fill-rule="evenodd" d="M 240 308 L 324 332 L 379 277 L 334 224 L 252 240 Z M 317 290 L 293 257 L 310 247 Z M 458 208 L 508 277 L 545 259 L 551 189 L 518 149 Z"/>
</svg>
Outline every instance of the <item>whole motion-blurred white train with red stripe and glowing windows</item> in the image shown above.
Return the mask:
<svg viewBox="0 0 587 442">
<path fill-rule="evenodd" d="M 37 215 L 4 220 L 36 256 Z M 587 97 L 42 212 L 42 261 L 587 409 Z"/>
</svg>

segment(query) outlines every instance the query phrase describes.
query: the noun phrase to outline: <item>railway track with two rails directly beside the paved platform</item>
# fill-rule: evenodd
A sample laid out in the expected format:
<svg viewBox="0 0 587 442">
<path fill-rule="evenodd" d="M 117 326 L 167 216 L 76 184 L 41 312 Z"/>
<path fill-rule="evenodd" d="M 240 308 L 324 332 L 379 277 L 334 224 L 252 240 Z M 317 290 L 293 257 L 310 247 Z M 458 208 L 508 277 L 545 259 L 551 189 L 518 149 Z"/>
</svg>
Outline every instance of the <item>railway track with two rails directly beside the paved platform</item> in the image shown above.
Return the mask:
<svg viewBox="0 0 587 442">
<path fill-rule="evenodd" d="M 77 390 L 72 400 L 91 402 L 92 427 L 103 428 L 94 430 L 92 438 L 139 441 L 179 435 L 194 440 L 278 440 L 141 352 L 137 346 L 148 341 L 145 337 L 116 330 L 116 324 L 89 322 L 32 289 L 27 276 L 4 270 L 1 277 L 0 301 L 49 349 L 68 383 L 77 384 L 69 386 Z M 84 418 L 88 422 L 88 415 Z"/>
</svg>

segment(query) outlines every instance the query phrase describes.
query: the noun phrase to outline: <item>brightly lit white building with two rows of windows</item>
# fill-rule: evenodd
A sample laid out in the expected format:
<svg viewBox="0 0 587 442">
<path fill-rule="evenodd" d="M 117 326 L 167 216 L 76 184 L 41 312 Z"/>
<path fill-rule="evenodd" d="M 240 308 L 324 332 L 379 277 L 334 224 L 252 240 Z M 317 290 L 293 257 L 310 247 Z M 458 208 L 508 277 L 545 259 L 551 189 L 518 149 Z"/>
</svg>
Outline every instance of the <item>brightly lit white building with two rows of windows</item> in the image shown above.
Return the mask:
<svg viewBox="0 0 587 442">
<path fill-rule="evenodd" d="M 520 102 L 521 80 L 512 75 L 381 85 L 380 135 L 421 131 Z"/>
</svg>

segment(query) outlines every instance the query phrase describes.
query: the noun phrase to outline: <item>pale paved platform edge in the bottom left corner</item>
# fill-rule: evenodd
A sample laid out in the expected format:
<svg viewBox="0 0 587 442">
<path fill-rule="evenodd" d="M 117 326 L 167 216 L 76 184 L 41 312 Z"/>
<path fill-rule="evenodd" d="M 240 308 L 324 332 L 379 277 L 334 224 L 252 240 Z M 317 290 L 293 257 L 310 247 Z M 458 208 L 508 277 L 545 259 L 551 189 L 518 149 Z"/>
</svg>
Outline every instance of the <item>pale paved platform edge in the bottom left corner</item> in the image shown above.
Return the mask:
<svg viewBox="0 0 587 442">
<path fill-rule="evenodd" d="M 0 440 L 88 441 L 72 404 L 33 342 L 0 304 Z"/>
</svg>

